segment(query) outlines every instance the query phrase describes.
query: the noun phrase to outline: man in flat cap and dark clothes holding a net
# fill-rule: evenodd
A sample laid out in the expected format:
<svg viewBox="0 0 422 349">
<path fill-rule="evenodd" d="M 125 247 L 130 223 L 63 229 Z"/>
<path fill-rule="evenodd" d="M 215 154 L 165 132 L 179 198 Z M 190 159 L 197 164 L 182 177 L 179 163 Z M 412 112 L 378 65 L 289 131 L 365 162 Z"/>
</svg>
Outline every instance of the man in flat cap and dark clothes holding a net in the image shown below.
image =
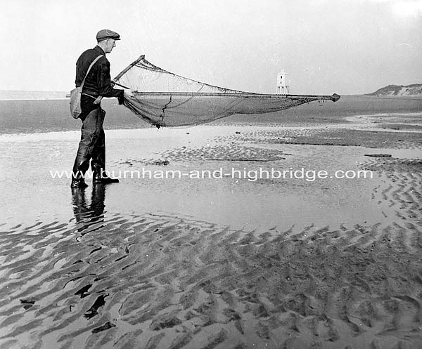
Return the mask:
<svg viewBox="0 0 422 349">
<path fill-rule="evenodd" d="M 115 48 L 115 41 L 120 40 L 120 35 L 109 29 L 100 30 L 96 34 L 97 46 L 84 51 L 76 63 L 76 86 L 82 87 L 80 119 L 82 120 L 82 135 L 79 148 L 72 170 L 71 187 L 87 187 L 84 174 L 89 169 L 93 171 L 93 184 L 117 183 L 119 180 L 105 175 L 106 170 L 106 138 L 104 136 L 103 121 L 106 112 L 101 109 L 102 97 L 116 97 L 119 104 L 123 103 L 123 96 L 133 96 L 131 91 L 124 91 L 113 88 L 110 79 L 110 62 L 106 58 L 106 53 L 110 53 Z M 88 68 L 94 60 L 101 55 L 89 70 Z"/>
</svg>

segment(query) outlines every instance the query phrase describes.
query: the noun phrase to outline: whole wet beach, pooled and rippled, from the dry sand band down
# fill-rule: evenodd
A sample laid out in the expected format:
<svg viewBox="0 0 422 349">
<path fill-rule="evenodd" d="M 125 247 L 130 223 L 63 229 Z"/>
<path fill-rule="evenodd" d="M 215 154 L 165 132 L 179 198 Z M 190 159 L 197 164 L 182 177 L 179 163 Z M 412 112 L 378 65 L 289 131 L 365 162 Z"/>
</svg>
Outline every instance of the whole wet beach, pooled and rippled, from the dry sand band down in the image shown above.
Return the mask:
<svg viewBox="0 0 422 349">
<path fill-rule="evenodd" d="M 0 136 L 0 348 L 421 348 L 420 121 L 305 121 L 107 131 L 117 174 L 224 176 L 73 191 L 78 132 Z M 373 178 L 229 176 L 302 168 Z"/>
</svg>

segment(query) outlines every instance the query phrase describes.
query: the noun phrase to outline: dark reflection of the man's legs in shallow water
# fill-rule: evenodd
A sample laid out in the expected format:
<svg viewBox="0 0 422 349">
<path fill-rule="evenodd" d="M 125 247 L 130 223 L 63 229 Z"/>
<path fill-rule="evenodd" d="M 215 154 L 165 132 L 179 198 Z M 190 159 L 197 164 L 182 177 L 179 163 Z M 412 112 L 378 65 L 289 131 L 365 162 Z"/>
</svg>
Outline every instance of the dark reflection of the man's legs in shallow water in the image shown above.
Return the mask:
<svg viewBox="0 0 422 349">
<path fill-rule="evenodd" d="M 104 220 L 106 185 L 93 185 L 90 204 L 87 202 L 85 191 L 86 188 L 72 188 L 73 213 L 77 223 L 82 223 L 77 229 L 78 232 L 83 232 L 89 225 Z"/>
</svg>

